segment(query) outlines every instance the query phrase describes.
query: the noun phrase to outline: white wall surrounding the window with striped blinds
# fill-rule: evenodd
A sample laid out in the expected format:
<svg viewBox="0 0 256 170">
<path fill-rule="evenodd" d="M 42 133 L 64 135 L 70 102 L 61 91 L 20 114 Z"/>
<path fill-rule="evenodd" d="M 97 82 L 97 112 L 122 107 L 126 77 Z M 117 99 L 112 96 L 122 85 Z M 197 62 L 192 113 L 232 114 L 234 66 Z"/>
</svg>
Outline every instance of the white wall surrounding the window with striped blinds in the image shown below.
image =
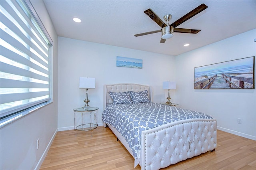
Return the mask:
<svg viewBox="0 0 256 170">
<path fill-rule="evenodd" d="M 1 170 L 31 170 L 39 168 L 44 151 L 57 130 L 58 39 L 44 2 L 31 2 L 54 41 L 53 103 L 0 129 Z M 40 139 L 40 146 L 37 150 L 36 140 L 38 138 Z"/>
</svg>

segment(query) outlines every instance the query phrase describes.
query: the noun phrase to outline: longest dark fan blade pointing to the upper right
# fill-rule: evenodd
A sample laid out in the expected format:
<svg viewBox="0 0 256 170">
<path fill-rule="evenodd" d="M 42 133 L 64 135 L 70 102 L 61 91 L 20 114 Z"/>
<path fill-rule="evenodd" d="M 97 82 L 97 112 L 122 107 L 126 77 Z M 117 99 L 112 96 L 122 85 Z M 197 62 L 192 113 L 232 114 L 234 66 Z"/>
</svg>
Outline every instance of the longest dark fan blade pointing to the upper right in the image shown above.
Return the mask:
<svg viewBox="0 0 256 170">
<path fill-rule="evenodd" d="M 178 19 L 177 21 L 172 23 L 170 26 L 173 26 L 174 28 L 176 28 L 177 26 L 179 26 L 180 24 L 182 24 L 186 20 L 192 18 L 196 14 L 199 14 L 200 12 L 205 10 L 206 8 L 208 8 L 208 6 L 206 6 L 205 4 L 201 4 L 200 6 L 196 7 L 194 10 L 188 12 L 188 14 L 182 16 L 180 19 Z"/>
</svg>

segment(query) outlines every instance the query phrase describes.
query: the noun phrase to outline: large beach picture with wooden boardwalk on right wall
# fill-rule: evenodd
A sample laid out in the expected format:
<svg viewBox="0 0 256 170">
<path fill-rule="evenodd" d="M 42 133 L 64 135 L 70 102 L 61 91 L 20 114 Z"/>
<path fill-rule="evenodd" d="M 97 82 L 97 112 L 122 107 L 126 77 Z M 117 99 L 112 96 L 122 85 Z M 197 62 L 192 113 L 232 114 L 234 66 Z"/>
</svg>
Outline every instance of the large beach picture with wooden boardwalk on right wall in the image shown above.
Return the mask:
<svg viewBox="0 0 256 170">
<path fill-rule="evenodd" d="M 194 89 L 254 89 L 255 56 L 194 68 Z"/>
</svg>

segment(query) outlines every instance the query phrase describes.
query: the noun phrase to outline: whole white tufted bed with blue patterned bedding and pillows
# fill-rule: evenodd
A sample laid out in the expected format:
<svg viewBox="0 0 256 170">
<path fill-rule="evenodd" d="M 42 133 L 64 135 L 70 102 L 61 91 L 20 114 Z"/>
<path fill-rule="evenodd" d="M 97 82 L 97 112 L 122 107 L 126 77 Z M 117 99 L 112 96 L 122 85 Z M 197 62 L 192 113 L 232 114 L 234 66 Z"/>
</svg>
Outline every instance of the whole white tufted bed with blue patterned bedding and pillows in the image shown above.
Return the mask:
<svg viewBox="0 0 256 170">
<path fill-rule="evenodd" d="M 113 95 L 123 93 L 130 94 L 131 91 L 136 95 L 138 93 L 143 93 L 144 95 L 146 94 L 149 102 L 127 103 L 124 101 L 125 104 L 113 104 Z M 192 158 L 193 156 L 215 150 L 217 146 L 216 119 L 213 119 L 204 113 L 176 108 L 174 106 L 152 103 L 151 97 L 152 88 L 147 85 L 129 83 L 104 85 L 104 112 L 102 114 L 104 127 L 108 126 L 116 135 L 118 140 L 122 142 L 128 152 L 130 152 L 130 154 L 134 157 L 134 167 L 140 164 L 142 170 L 158 170 L 171 164 L 176 164 L 182 160 Z M 114 102 L 116 102 L 116 100 Z M 122 107 L 122 109 L 130 112 L 131 114 L 129 114 L 131 117 L 138 117 L 137 115 L 133 115 L 133 113 L 137 114 L 139 112 L 143 112 L 144 109 L 148 107 L 153 108 L 148 109 L 149 111 L 154 110 L 161 113 L 162 110 L 163 113 L 166 110 L 169 113 L 178 111 L 180 113 L 188 113 L 188 115 L 192 115 L 192 117 L 183 119 L 182 116 L 179 115 L 177 116 L 178 120 L 171 120 L 168 123 L 165 122 L 163 125 L 157 125 L 153 128 L 144 128 L 143 125 L 138 125 L 136 121 L 134 121 L 135 123 L 128 123 L 129 120 L 134 118 L 128 117 L 125 119 L 123 118 L 124 115 L 115 115 L 112 116 L 111 120 L 107 120 L 106 117 L 111 116 L 112 114 L 108 113 L 111 109 L 116 109 L 114 113 L 121 112 L 118 110 L 119 107 Z M 137 109 L 136 107 L 139 108 Z M 195 115 L 199 116 L 194 117 Z M 144 117 L 142 116 L 140 119 L 143 119 Z M 162 116 L 159 118 L 163 119 L 164 121 L 168 119 L 162 118 Z M 157 122 L 159 122 L 158 118 Z M 130 124 L 132 124 L 132 126 Z M 118 127 L 118 125 L 120 126 Z M 136 128 L 133 129 L 133 127 Z M 130 129 L 128 129 L 128 132 L 122 132 L 120 128 Z M 127 133 L 133 133 L 133 136 L 131 135 L 132 137 L 127 137 Z"/>
</svg>

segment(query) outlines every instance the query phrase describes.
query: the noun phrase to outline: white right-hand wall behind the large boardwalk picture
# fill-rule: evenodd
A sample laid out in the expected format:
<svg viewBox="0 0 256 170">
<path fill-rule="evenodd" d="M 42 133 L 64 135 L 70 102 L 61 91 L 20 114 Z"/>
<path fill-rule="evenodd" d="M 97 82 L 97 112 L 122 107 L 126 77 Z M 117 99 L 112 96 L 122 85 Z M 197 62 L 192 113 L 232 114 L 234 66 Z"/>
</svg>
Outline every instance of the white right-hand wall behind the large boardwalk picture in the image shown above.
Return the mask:
<svg viewBox="0 0 256 170">
<path fill-rule="evenodd" d="M 176 56 L 176 99 L 216 118 L 218 129 L 256 140 L 255 89 L 194 89 L 194 67 L 255 56 L 254 38 L 255 29 Z"/>
</svg>

